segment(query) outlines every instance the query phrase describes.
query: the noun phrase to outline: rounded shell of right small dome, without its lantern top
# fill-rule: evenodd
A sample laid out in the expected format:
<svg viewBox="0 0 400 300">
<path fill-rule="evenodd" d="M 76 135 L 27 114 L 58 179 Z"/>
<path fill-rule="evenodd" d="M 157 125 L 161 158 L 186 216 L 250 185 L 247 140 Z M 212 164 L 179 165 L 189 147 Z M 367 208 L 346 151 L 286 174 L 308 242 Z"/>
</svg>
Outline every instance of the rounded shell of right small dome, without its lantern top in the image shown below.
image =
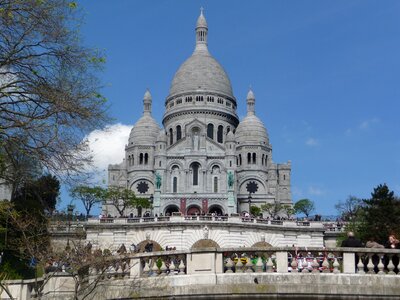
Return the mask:
<svg viewBox="0 0 400 300">
<path fill-rule="evenodd" d="M 236 128 L 235 140 L 240 144 L 269 144 L 268 133 L 256 115 L 247 115 Z"/>
</svg>

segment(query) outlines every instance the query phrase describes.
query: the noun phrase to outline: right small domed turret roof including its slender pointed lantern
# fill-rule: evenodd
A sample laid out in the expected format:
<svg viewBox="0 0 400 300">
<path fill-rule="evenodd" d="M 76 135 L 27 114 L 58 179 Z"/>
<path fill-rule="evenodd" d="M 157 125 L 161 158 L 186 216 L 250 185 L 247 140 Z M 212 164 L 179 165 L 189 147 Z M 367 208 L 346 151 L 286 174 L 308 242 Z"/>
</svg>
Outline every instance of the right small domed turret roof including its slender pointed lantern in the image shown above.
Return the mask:
<svg viewBox="0 0 400 300">
<path fill-rule="evenodd" d="M 247 94 L 247 116 L 236 128 L 235 138 L 240 144 L 269 144 L 263 122 L 255 115 L 255 97 L 250 89 Z"/>
</svg>

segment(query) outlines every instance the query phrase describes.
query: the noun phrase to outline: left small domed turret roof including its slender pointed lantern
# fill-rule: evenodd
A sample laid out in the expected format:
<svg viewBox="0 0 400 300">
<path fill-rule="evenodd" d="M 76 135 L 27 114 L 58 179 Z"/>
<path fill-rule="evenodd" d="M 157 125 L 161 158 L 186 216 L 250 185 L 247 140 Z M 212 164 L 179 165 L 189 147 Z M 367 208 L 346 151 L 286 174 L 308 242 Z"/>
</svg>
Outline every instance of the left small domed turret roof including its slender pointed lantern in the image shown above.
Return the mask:
<svg viewBox="0 0 400 300">
<path fill-rule="evenodd" d="M 143 116 L 133 126 L 129 135 L 130 145 L 154 145 L 160 126 L 151 116 L 151 104 L 151 94 L 147 90 L 143 97 Z"/>
</svg>

